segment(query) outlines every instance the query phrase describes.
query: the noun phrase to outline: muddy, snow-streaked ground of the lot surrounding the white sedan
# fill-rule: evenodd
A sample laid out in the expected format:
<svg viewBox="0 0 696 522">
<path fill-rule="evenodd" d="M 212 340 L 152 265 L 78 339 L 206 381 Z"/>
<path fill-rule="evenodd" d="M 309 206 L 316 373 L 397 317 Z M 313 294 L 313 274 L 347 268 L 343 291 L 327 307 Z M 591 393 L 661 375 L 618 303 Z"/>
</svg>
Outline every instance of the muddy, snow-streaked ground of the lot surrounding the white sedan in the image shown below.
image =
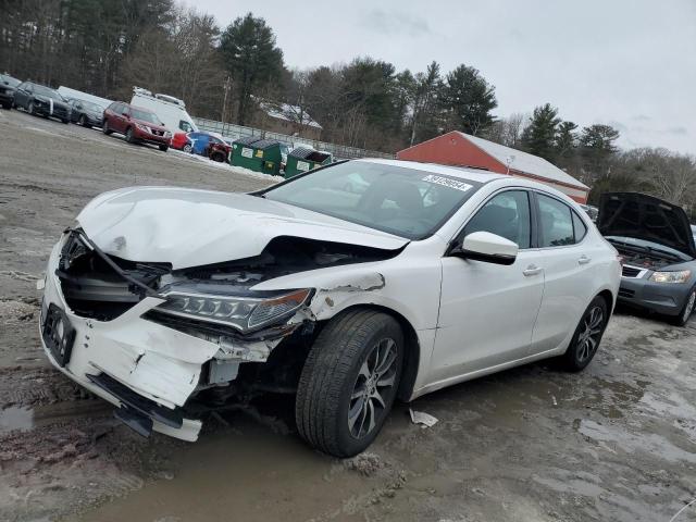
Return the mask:
<svg viewBox="0 0 696 522">
<path fill-rule="evenodd" d="M 585 372 L 532 364 L 423 397 L 432 428 L 400 405 L 355 459 L 307 448 L 281 396 L 196 444 L 140 438 L 44 357 L 49 250 L 103 190 L 268 179 L 17 111 L 0 135 L 0 521 L 669 522 L 696 497 L 696 319 L 627 311 Z"/>
</svg>

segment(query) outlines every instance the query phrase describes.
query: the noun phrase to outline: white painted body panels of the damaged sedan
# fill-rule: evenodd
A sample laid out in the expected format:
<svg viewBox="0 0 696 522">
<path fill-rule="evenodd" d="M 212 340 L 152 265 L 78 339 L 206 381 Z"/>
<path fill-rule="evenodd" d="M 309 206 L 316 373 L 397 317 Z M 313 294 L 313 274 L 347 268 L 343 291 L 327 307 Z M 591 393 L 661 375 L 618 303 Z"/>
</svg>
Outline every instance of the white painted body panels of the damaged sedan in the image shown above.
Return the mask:
<svg viewBox="0 0 696 522">
<path fill-rule="evenodd" d="M 370 160 L 373 161 L 373 160 Z M 85 234 L 105 253 L 184 269 L 258 256 L 273 238 L 291 236 L 373 247 L 400 253 L 383 261 L 344 264 L 270 278 L 251 290 L 312 288 L 311 301 L 288 321 L 328 321 L 356 306 L 381 307 L 407 321 L 418 338 L 419 363 L 410 399 L 447 385 L 562 353 L 594 296 L 616 299 L 616 250 L 562 194 L 508 176 L 389 160 L 484 185 L 431 237 L 410 241 L 316 212 L 248 195 L 165 187 L 125 188 L 95 198 L 78 215 Z M 574 246 L 520 250 L 511 265 L 446 257 L 448 245 L 492 195 L 533 189 L 566 201 L 587 226 Z M 54 274 L 61 243 L 49 260 L 45 301 L 59 304 L 77 331 L 73 356 L 60 370 L 112 403 L 86 374 L 104 372 L 167 408 L 195 393 L 202 365 L 215 358 L 264 361 L 277 345 L 235 341 L 245 359 L 220 339 L 203 339 L 142 319 L 162 299 L 146 297 L 115 320 L 99 322 L 70 309 Z M 586 256 L 589 262 L 579 264 Z M 532 266 L 539 269 L 525 275 Z M 613 302 L 611 303 L 613 306 Z M 611 308 L 611 307 L 610 307 Z M 46 348 L 46 346 L 45 346 Z M 49 350 L 49 358 L 51 358 Z M 153 430 L 192 440 L 200 422 Z"/>
</svg>

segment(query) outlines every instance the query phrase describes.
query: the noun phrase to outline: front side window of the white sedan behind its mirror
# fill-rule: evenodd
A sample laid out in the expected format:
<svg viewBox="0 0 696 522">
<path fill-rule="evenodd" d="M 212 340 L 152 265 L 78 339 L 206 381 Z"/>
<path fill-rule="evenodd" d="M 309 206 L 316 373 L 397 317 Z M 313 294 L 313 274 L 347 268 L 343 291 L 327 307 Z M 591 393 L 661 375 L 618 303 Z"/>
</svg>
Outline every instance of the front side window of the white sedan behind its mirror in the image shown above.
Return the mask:
<svg viewBox="0 0 696 522">
<path fill-rule="evenodd" d="M 507 190 L 490 198 L 467 223 L 461 239 L 474 232 L 489 232 L 530 248 L 532 222 L 526 190 Z"/>
</svg>

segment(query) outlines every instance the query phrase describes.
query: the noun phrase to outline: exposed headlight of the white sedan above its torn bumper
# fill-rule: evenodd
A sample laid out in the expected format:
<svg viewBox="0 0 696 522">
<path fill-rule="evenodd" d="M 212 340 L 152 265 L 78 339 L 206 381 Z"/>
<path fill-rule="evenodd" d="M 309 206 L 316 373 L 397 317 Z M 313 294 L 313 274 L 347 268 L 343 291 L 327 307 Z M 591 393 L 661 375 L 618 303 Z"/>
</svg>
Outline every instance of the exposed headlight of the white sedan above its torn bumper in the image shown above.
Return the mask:
<svg viewBox="0 0 696 522">
<path fill-rule="evenodd" d="M 157 310 L 171 315 L 234 326 L 241 332 L 256 330 L 288 318 L 309 298 L 310 289 L 290 290 L 271 297 L 239 297 L 187 294 L 174 290 Z"/>
</svg>

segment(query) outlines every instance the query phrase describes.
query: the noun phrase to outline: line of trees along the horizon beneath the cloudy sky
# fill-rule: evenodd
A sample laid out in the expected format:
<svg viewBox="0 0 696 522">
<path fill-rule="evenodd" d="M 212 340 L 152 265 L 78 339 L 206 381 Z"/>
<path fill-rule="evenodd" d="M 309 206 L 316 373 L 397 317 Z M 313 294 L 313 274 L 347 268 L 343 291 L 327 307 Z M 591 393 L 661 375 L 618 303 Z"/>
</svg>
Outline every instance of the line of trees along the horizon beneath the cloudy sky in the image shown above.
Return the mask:
<svg viewBox="0 0 696 522">
<path fill-rule="evenodd" d="M 240 125 L 261 124 L 259 102 L 276 103 L 299 134 L 311 116 L 323 140 L 387 152 L 457 129 L 551 161 L 593 186 L 592 201 L 633 187 L 696 209 L 693 157 L 622 151 L 616 128 L 579 128 L 549 103 L 496 117 L 495 86 L 471 65 L 397 71 L 358 57 L 293 69 L 263 18 L 220 27 L 174 0 L 0 0 L 0 70 L 22 79 L 124 100 L 145 87 Z"/>
</svg>

